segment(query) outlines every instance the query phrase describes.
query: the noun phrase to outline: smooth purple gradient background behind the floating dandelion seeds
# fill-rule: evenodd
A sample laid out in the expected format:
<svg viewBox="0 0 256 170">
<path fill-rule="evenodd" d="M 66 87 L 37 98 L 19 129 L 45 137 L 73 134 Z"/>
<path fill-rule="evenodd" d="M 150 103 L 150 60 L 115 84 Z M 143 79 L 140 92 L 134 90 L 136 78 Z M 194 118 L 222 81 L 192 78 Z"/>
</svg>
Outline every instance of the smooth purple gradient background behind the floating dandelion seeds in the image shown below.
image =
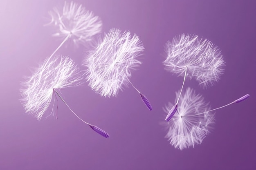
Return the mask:
<svg viewBox="0 0 256 170">
<path fill-rule="evenodd" d="M 88 83 L 62 89 L 83 119 L 110 134 L 105 139 L 59 102 L 54 116 L 37 121 L 20 103 L 20 82 L 61 43 L 44 27 L 48 11 L 63 1 L 0 1 L 0 170 L 255 170 L 256 2 L 254 0 L 76 0 L 103 21 L 103 33 L 120 28 L 144 44 L 143 64 L 131 81 L 144 93 L 149 111 L 131 86 L 104 98 Z M 198 34 L 221 50 L 221 80 L 203 89 L 190 86 L 216 108 L 249 93 L 244 102 L 216 112 L 213 131 L 201 145 L 182 151 L 164 138 L 162 109 L 173 102 L 183 77 L 165 71 L 164 44 L 182 33 Z M 85 48 L 66 44 L 58 52 L 79 65 Z M 60 101 L 60 100 L 59 100 Z"/>
</svg>

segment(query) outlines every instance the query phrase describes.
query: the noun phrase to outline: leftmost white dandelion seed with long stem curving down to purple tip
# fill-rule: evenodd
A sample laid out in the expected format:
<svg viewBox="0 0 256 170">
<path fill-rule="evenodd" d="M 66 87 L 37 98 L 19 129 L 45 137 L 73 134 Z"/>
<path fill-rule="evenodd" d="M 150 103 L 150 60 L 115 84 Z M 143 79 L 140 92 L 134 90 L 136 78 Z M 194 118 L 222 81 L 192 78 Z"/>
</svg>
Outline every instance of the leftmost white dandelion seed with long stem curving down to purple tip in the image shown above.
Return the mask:
<svg viewBox="0 0 256 170">
<path fill-rule="evenodd" d="M 27 81 L 22 83 L 21 96 L 23 106 L 27 113 L 35 115 L 40 120 L 52 101 L 53 94 L 57 94 L 66 106 L 64 99 L 56 91 L 60 88 L 79 86 L 83 79 L 78 73 L 79 69 L 69 57 L 47 58 L 45 62 L 34 72 Z M 74 115 L 76 115 L 74 113 Z M 81 119 L 78 115 L 76 115 Z M 83 121 L 81 119 L 81 121 Z M 83 121 L 85 124 L 87 122 Z M 90 127 L 93 126 L 88 124 Z M 97 128 L 97 126 L 95 126 Z M 99 128 L 98 128 L 99 129 Z M 96 131 L 96 130 L 94 130 Z M 96 132 L 100 132 L 100 129 Z M 108 134 L 102 130 L 100 135 L 107 137 Z"/>
</svg>

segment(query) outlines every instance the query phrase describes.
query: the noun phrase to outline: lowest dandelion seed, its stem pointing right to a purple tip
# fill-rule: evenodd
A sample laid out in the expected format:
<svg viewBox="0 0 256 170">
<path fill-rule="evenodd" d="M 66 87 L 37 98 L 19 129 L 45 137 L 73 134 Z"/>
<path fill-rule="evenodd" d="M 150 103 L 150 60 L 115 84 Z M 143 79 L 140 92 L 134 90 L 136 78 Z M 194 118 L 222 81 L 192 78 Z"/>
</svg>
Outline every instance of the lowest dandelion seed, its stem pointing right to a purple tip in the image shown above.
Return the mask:
<svg viewBox="0 0 256 170">
<path fill-rule="evenodd" d="M 187 88 L 184 95 L 180 96 L 179 94 L 180 92 L 176 93 L 175 99 L 176 102 L 180 97 L 177 113 L 164 125 L 168 127 L 165 137 L 168 138 L 172 146 L 180 150 L 202 143 L 214 123 L 212 111 L 242 102 L 249 97 L 247 94 L 225 106 L 209 110 L 209 103 L 205 103 L 204 98 L 201 95 L 196 95 L 191 88 Z M 173 104 L 169 103 L 164 111 L 169 113 L 172 108 Z"/>
</svg>

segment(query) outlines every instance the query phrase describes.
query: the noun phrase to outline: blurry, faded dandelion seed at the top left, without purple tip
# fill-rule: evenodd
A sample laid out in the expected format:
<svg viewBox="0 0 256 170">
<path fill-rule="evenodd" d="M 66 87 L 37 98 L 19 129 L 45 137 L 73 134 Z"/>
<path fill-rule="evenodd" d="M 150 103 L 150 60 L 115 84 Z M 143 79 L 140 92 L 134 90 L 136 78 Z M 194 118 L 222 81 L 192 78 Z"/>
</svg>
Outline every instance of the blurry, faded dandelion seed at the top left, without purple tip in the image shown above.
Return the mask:
<svg viewBox="0 0 256 170">
<path fill-rule="evenodd" d="M 46 25 L 53 24 L 57 28 L 53 36 L 64 38 L 54 53 L 68 39 L 78 46 L 92 40 L 92 36 L 101 32 L 102 22 L 99 17 L 75 2 L 65 2 L 62 10 L 54 8 L 53 11 L 49 11 L 49 15 L 51 22 Z"/>
</svg>

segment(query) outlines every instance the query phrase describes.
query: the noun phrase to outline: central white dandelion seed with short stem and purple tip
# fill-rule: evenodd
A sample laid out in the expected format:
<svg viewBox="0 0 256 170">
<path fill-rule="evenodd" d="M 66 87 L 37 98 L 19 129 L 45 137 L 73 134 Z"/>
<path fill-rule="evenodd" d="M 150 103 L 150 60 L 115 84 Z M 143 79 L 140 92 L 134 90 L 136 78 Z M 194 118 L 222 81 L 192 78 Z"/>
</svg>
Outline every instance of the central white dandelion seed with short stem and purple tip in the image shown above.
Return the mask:
<svg viewBox="0 0 256 170">
<path fill-rule="evenodd" d="M 131 70 L 141 64 L 137 57 L 143 50 L 137 35 L 131 36 L 129 31 L 121 34 L 121 30 L 111 29 L 83 62 L 88 67 L 89 86 L 101 96 L 110 97 L 117 96 L 122 86 L 130 83 L 147 108 L 152 110 L 148 99 L 129 80 Z"/>
</svg>

